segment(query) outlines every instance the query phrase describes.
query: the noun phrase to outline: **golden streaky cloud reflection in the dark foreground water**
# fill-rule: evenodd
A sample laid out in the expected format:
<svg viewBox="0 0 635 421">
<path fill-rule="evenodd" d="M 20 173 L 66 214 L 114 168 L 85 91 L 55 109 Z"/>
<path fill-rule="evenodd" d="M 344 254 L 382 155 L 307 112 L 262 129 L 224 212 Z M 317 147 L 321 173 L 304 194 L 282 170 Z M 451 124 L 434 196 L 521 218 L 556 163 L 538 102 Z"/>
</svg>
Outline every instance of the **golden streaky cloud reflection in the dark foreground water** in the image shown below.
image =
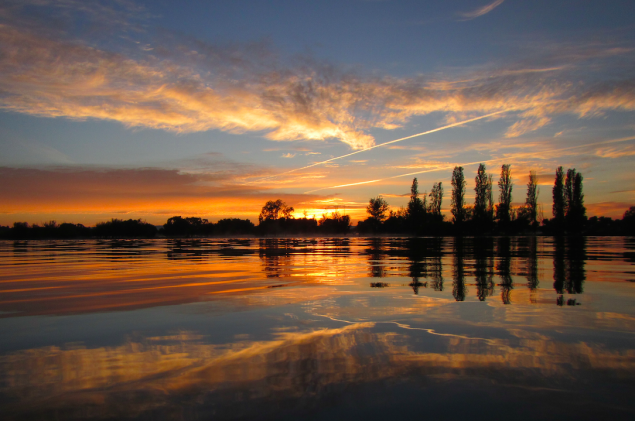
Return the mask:
<svg viewBox="0 0 635 421">
<path fill-rule="evenodd" d="M 35 348 L 0 356 L 0 393 L 12 400 L 5 414 L 14 417 L 60 411 L 71 418 L 142 416 L 186 403 L 197 411 L 213 405 L 220 414 L 254 416 L 283 402 L 301 405 L 307 396 L 320 402 L 337 390 L 415 376 L 434 384 L 470 373 L 518 386 L 555 381 L 568 389 L 562 380 L 635 372 L 632 350 L 511 333 L 487 341 L 436 336 L 427 339 L 430 349 L 416 350 L 411 331 L 382 333 L 373 323 L 357 323 L 222 345 L 185 332 L 119 346 Z"/>
</svg>

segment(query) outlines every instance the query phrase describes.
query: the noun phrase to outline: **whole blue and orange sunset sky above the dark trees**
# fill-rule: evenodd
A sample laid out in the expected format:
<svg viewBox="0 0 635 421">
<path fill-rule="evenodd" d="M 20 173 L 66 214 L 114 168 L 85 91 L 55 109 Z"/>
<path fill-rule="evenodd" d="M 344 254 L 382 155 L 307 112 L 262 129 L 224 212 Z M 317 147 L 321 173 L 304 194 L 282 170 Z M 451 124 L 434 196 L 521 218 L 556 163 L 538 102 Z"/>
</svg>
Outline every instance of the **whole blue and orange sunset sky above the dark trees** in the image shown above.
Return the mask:
<svg viewBox="0 0 635 421">
<path fill-rule="evenodd" d="M 462 166 L 635 205 L 632 0 L 4 0 L 0 225 L 365 219 Z M 385 145 L 382 145 L 385 144 Z M 496 187 L 495 187 L 496 191 Z M 495 194 L 497 196 L 497 192 Z"/>
</svg>

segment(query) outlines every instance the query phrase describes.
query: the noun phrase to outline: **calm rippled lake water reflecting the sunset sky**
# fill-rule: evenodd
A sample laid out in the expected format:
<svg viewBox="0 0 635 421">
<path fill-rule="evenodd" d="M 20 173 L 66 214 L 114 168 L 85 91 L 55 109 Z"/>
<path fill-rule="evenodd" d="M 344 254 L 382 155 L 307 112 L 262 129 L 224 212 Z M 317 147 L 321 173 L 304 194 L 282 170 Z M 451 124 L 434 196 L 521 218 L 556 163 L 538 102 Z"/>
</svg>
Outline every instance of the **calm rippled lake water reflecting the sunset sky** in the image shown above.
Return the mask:
<svg viewBox="0 0 635 421">
<path fill-rule="evenodd" d="M 635 419 L 635 239 L 0 242 L 17 419 Z"/>
</svg>

